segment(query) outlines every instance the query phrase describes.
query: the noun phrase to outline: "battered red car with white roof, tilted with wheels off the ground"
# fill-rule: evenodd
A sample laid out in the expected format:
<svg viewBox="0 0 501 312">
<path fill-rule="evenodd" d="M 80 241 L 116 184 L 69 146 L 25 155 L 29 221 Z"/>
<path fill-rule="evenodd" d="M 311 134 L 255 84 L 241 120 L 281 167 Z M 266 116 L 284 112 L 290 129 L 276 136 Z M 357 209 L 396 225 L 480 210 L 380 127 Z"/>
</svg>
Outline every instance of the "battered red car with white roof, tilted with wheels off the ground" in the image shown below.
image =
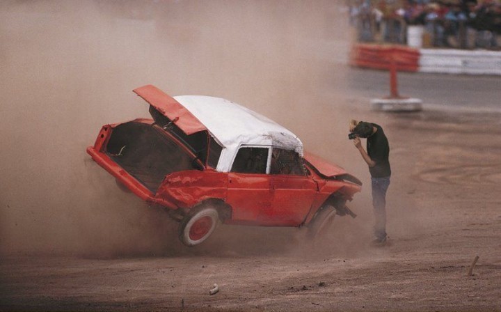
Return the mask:
<svg viewBox="0 0 501 312">
<path fill-rule="evenodd" d="M 315 235 L 362 183 L 303 152 L 296 135 L 260 114 L 200 95 L 134 92 L 153 119 L 104 125 L 88 154 L 120 187 L 167 208 L 180 240 L 200 244 L 216 226 L 306 226 Z"/>
</svg>

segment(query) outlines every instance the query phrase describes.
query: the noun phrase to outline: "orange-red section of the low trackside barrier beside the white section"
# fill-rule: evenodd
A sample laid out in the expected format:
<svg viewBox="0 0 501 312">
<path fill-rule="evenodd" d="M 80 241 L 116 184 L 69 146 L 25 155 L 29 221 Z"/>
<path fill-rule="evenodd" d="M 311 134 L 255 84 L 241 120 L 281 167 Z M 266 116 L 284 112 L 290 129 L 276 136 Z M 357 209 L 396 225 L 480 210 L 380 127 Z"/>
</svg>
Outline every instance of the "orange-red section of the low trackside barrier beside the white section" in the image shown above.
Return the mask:
<svg viewBox="0 0 501 312">
<path fill-rule="evenodd" d="M 389 70 L 392 61 L 399 71 L 419 70 L 420 50 L 401 45 L 356 44 L 352 47 L 351 65 Z"/>
</svg>

